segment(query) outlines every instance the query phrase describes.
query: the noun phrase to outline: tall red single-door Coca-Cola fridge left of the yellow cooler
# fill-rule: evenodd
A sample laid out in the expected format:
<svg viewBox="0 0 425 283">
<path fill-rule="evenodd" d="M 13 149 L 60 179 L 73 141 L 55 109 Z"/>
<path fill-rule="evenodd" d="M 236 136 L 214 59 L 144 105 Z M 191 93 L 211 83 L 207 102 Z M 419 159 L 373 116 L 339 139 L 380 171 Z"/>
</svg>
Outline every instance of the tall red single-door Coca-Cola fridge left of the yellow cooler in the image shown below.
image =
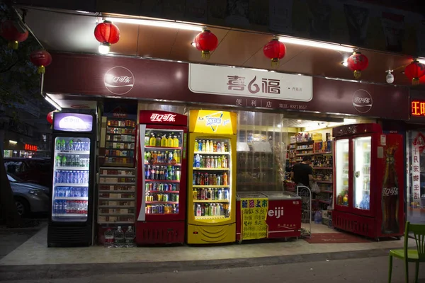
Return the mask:
<svg viewBox="0 0 425 283">
<path fill-rule="evenodd" d="M 139 121 L 136 243 L 183 243 L 188 117 L 141 110 Z"/>
</svg>

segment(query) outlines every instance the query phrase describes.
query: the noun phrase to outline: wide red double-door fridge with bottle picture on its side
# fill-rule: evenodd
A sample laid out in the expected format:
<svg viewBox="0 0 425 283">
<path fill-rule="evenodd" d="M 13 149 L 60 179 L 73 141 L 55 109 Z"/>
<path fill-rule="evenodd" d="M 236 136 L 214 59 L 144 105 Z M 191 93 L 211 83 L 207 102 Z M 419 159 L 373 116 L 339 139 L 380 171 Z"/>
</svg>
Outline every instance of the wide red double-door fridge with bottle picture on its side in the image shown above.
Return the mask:
<svg viewBox="0 0 425 283">
<path fill-rule="evenodd" d="M 375 238 L 404 232 L 403 139 L 378 124 L 333 129 L 336 229 Z"/>
</svg>

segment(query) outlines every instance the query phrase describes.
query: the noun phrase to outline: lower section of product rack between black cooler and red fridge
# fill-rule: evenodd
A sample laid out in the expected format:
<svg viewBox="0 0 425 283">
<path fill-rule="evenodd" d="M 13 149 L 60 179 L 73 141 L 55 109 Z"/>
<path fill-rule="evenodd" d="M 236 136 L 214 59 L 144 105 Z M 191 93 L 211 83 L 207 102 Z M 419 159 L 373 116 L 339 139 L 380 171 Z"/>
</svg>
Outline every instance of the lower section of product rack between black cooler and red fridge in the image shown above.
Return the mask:
<svg viewBox="0 0 425 283">
<path fill-rule="evenodd" d="M 135 168 L 100 168 L 98 177 L 98 224 L 135 222 L 135 174 Z"/>
</svg>

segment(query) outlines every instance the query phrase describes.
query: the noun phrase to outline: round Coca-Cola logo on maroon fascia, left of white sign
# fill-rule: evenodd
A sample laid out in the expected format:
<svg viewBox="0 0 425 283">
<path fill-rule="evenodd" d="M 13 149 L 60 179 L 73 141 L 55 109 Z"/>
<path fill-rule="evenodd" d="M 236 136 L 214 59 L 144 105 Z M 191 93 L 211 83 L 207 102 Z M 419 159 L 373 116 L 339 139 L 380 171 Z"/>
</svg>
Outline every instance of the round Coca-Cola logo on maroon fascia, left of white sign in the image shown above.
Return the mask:
<svg viewBox="0 0 425 283">
<path fill-rule="evenodd" d="M 103 77 L 105 87 L 113 94 L 122 96 L 132 90 L 135 85 L 135 76 L 124 67 L 113 67 Z"/>
</svg>

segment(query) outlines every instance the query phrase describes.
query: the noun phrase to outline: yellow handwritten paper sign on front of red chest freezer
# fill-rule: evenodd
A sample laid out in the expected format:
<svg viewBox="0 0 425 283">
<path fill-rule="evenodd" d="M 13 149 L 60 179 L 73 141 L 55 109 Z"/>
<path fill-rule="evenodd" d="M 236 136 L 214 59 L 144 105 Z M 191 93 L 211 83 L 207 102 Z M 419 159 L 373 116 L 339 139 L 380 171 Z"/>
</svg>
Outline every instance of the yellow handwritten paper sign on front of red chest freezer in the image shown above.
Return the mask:
<svg viewBox="0 0 425 283">
<path fill-rule="evenodd" d="M 242 240 L 267 238 L 267 212 L 268 199 L 241 200 Z"/>
</svg>

